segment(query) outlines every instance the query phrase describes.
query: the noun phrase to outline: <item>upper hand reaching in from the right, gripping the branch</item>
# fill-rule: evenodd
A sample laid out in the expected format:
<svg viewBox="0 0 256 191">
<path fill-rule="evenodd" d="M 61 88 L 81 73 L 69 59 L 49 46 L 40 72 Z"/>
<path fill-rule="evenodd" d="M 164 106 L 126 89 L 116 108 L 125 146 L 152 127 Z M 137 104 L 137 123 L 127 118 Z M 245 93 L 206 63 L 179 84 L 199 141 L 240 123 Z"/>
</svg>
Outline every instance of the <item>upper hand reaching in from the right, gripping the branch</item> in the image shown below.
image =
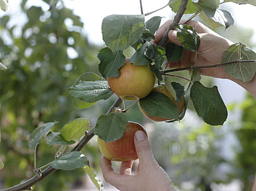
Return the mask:
<svg viewBox="0 0 256 191">
<path fill-rule="evenodd" d="M 172 20 L 167 21 L 164 23 L 158 30 L 156 31 L 155 37 L 155 44 L 159 41 L 163 34 L 167 31 Z M 200 37 L 200 46 L 197 52 L 197 58 L 195 65 L 202 66 L 202 65 L 215 65 L 220 64 L 221 59 L 223 57 L 223 52 L 232 44 L 230 40 L 221 37 L 219 34 L 213 32 L 211 29 L 204 26 L 201 22 L 198 21 L 189 21 L 186 25 L 191 25 L 195 28 L 196 32 Z M 169 41 L 174 44 L 181 46 L 179 39 L 177 37 L 177 32 L 170 31 L 168 33 Z M 170 68 L 181 68 L 187 67 L 194 63 L 195 60 L 195 52 L 184 50 L 183 57 L 180 61 L 175 63 L 169 63 Z M 235 79 L 226 74 L 223 67 L 216 67 L 216 68 L 201 68 L 200 74 L 212 77 L 218 77 L 221 79 L 229 79 L 232 80 L 238 85 L 242 86 L 246 89 L 249 93 L 251 93 L 256 98 L 256 75 L 254 78 L 249 82 L 242 82 L 241 80 Z"/>
</svg>

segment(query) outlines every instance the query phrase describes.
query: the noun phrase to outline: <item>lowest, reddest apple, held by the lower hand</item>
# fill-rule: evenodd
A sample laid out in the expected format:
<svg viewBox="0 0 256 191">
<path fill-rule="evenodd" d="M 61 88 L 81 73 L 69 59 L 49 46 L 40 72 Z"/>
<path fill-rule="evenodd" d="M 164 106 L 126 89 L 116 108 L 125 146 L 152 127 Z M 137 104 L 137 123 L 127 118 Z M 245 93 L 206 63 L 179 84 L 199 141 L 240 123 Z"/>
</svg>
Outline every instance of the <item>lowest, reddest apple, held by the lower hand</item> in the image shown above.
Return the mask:
<svg viewBox="0 0 256 191">
<path fill-rule="evenodd" d="M 101 153 L 109 159 L 115 161 L 128 161 L 138 159 L 134 146 L 134 134 L 136 131 L 142 130 L 146 134 L 146 130 L 139 123 L 128 122 L 126 132 L 123 137 L 113 142 L 105 142 L 98 136 L 98 145 Z M 147 134 L 146 134 L 147 135 Z"/>
</svg>

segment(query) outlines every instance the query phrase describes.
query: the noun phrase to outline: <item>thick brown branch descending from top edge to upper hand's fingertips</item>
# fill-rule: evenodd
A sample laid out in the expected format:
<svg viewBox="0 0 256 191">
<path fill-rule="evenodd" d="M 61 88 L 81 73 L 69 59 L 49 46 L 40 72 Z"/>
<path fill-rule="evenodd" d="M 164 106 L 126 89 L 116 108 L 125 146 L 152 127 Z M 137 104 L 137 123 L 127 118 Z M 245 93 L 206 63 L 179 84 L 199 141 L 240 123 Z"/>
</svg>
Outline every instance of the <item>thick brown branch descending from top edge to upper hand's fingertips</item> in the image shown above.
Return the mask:
<svg viewBox="0 0 256 191">
<path fill-rule="evenodd" d="M 174 16 L 173 22 L 170 24 L 167 31 L 164 33 L 163 37 L 161 38 L 161 40 L 158 42 L 158 44 L 157 44 L 158 46 L 164 46 L 167 43 L 168 33 L 170 32 L 170 30 L 174 30 L 175 26 L 179 25 L 181 17 L 183 16 L 183 14 L 187 8 L 188 1 L 189 0 L 181 0 L 180 8 L 179 8 L 177 14 Z"/>
</svg>

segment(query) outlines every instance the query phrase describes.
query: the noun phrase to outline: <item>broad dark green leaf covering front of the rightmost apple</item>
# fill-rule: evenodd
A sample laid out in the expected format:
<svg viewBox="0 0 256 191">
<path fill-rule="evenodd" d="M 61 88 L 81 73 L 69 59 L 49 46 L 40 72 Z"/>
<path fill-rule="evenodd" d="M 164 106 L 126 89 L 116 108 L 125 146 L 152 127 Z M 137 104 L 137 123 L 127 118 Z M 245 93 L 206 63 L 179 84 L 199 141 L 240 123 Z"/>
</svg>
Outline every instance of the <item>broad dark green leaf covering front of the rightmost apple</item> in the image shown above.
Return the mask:
<svg viewBox="0 0 256 191">
<path fill-rule="evenodd" d="M 151 92 L 147 97 L 140 99 L 141 108 L 150 116 L 163 118 L 178 118 L 177 106 L 167 96 L 160 92 Z"/>
</svg>

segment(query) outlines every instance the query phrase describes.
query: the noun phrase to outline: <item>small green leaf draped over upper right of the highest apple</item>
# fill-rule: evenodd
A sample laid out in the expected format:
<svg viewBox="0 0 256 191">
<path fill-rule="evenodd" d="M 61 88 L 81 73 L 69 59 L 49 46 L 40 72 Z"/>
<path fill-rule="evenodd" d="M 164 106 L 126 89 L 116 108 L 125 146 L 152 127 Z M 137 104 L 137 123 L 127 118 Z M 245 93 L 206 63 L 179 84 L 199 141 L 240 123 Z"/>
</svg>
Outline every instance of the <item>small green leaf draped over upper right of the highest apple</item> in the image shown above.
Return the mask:
<svg viewBox="0 0 256 191">
<path fill-rule="evenodd" d="M 147 43 L 143 44 L 130 58 L 130 62 L 132 62 L 133 65 L 148 65 L 152 63 L 151 59 L 145 56 L 144 52 L 146 47 Z"/>
</svg>

